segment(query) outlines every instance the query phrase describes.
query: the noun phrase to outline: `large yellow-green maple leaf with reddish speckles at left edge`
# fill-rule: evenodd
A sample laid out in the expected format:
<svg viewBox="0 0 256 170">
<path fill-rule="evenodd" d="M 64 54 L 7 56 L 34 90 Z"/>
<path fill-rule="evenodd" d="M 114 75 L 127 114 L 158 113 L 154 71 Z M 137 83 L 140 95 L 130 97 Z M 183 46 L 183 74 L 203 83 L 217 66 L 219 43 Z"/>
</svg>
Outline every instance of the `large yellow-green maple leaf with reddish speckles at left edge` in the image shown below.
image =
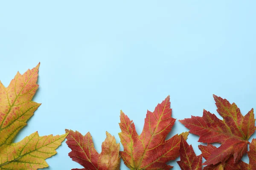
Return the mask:
<svg viewBox="0 0 256 170">
<path fill-rule="evenodd" d="M 5 88 L 0 82 L 0 170 L 37 170 L 48 167 L 45 159 L 55 155 L 55 149 L 67 136 L 39 136 L 38 132 L 12 143 L 26 121 L 41 105 L 32 101 L 38 85 L 40 63 L 23 75 L 19 72 Z"/>
</svg>

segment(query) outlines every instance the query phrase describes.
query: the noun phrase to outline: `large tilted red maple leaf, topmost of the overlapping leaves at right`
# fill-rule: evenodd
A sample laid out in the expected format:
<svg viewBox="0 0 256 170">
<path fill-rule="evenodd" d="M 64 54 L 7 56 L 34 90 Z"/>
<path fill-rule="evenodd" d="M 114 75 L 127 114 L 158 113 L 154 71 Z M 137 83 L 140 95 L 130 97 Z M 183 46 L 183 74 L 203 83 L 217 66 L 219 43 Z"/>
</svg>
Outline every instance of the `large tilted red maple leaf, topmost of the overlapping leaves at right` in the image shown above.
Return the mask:
<svg viewBox="0 0 256 170">
<path fill-rule="evenodd" d="M 213 97 L 223 120 L 204 110 L 202 117 L 192 116 L 180 122 L 190 129 L 190 133 L 200 136 L 198 142 L 221 143 L 212 151 L 205 165 L 225 162 L 230 157 L 237 163 L 247 152 L 248 139 L 256 130 L 253 109 L 243 116 L 235 103 L 230 104 L 227 99 L 215 95 Z"/>
</svg>

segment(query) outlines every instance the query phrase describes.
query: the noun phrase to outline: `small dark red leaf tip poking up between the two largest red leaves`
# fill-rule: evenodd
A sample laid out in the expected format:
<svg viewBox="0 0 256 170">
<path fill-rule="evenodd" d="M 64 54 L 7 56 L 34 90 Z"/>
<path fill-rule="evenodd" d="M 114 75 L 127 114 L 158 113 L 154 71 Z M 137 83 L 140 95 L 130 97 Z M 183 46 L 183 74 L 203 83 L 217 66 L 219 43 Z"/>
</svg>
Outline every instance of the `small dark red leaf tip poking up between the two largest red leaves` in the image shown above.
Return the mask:
<svg viewBox="0 0 256 170">
<path fill-rule="evenodd" d="M 201 170 L 202 156 L 196 156 L 193 147 L 181 136 L 180 161 L 177 161 L 182 170 Z"/>
</svg>

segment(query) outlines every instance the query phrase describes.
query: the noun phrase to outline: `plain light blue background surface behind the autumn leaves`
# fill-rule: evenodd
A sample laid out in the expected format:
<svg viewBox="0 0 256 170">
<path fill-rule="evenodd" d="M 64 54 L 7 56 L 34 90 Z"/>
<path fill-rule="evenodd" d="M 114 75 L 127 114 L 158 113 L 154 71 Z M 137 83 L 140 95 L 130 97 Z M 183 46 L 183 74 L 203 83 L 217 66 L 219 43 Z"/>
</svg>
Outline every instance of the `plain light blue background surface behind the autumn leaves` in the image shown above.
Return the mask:
<svg viewBox="0 0 256 170">
<path fill-rule="evenodd" d="M 17 71 L 41 62 L 34 100 L 42 105 L 16 142 L 37 130 L 42 136 L 68 128 L 90 131 L 100 152 L 106 130 L 119 142 L 120 109 L 141 133 L 147 109 L 168 95 L 176 119 L 201 116 L 203 109 L 216 113 L 212 94 L 246 114 L 256 108 L 255 5 L 1 1 L 0 80 L 7 86 Z M 186 130 L 176 121 L 171 135 Z M 200 154 L 197 140 L 189 135 L 187 141 Z M 81 167 L 65 143 L 57 151 L 48 170 Z"/>
</svg>

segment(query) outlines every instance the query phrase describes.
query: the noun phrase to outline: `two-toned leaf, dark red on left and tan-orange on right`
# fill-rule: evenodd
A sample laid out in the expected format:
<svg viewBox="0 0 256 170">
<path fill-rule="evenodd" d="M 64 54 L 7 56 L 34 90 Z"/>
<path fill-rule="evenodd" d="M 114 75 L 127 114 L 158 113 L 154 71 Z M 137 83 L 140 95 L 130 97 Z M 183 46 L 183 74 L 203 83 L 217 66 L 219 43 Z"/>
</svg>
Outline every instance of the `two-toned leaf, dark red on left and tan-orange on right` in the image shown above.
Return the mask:
<svg viewBox="0 0 256 170">
<path fill-rule="evenodd" d="M 73 161 L 78 162 L 84 168 L 72 170 L 119 170 L 120 144 L 116 144 L 116 139 L 106 132 L 106 139 L 102 142 L 102 152 L 99 154 L 93 145 L 90 133 L 83 136 L 78 131 L 67 130 L 67 145 L 72 150 L 68 155 Z"/>
</svg>

